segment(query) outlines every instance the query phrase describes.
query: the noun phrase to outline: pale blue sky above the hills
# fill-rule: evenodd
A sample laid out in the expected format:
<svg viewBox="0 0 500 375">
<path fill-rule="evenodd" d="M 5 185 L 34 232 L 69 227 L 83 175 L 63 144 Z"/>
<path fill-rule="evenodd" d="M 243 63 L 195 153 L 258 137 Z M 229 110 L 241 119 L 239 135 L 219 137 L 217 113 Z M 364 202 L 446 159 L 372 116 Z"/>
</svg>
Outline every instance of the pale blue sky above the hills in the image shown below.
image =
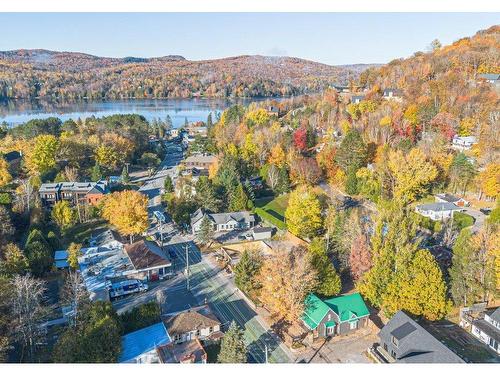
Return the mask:
<svg viewBox="0 0 500 375">
<path fill-rule="evenodd" d="M 0 13 L 0 50 L 386 63 L 495 24 L 500 13 Z"/>
</svg>

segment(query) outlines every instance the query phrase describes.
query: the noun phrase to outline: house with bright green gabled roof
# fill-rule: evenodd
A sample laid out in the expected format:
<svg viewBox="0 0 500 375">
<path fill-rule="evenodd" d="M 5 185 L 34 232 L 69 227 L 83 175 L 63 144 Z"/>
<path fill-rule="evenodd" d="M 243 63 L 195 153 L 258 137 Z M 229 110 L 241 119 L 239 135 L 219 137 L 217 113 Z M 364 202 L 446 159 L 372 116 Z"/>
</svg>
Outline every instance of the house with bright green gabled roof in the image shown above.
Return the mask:
<svg viewBox="0 0 500 375">
<path fill-rule="evenodd" d="M 305 301 L 302 322 L 313 338 L 347 335 L 368 325 L 370 312 L 359 293 L 319 299 L 311 293 Z"/>
</svg>

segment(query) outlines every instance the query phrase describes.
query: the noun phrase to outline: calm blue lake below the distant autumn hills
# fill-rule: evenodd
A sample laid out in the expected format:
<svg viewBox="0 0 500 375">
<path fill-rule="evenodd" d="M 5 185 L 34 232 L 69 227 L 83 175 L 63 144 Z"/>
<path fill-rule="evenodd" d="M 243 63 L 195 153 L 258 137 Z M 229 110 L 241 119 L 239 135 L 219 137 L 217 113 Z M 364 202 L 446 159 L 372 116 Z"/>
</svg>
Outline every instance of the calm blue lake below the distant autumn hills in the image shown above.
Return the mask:
<svg viewBox="0 0 500 375">
<path fill-rule="evenodd" d="M 215 113 L 222 112 L 233 104 L 248 105 L 266 100 L 252 99 L 131 99 L 80 102 L 47 102 L 10 100 L 0 102 L 0 123 L 10 126 L 22 124 L 36 118 L 58 117 L 62 121 L 90 116 L 102 117 L 114 114 L 137 113 L 148 121 L 154 118 L 164 120 L 167 115 L 174 127 L 184 122 L 206 121 L 209 113 L 215 120 Z M 280 100 L 280 99 L 277 99 Z"/>
</svg>

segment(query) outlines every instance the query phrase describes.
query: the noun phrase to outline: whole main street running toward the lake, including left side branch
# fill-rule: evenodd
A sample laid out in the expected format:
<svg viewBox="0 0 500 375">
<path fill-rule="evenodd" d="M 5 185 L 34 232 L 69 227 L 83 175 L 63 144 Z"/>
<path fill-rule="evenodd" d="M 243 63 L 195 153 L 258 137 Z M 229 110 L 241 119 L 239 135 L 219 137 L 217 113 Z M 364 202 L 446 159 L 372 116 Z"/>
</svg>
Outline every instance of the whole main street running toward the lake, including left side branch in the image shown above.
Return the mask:
<svg viewBox="0 0 500 375">
<path fill-rule="evenodd" d="M 161 190 L 165 177 L 170 175 L 175 179 L 175 166 L 182 160 L 182 154 L 167 154 L 156 173 L 145 180 L 139 191 L 149 198 L 149 211 L 161 208 Z M 151 285 L 150 290 L 129 299 L 116 301 L 115 307 L 121 312 L 127 309 L 153 300 L 159 288 L 166 291 L 166 311 L 173 312 L 187 309 L 195 303 L 208 303 L 214 313 L 221 319 L 225 328 L 235 321 L 245 329 L 245 339 L 251 359 L 255 362 L 266 361 L 265 347 L 268 348 L 268 361 L 277 363 L 293 362 L 293 355 L 271 331 L 266 323 L 252 310 L 243 300 L 240 292 L 225 274 L 222 274 L 215 263 L 202 256 L 198 247 L 193 243 L 193 236 L 182 235 L 172 222 L 168 214 L 166 223 L 163 225 L 164 250 L 170 254 L 173 267 L 178 272 L 174 279 Z M 156 235 L 161 230 L 158 225 L 152 225 L 148 234 Z M 190 265 L 190 288 L 187 290 L 186 267 L 186 245 L 188 246 L 188 257 Z M 173 256 L 172 256 L 173 255 Z"/>
</svg>

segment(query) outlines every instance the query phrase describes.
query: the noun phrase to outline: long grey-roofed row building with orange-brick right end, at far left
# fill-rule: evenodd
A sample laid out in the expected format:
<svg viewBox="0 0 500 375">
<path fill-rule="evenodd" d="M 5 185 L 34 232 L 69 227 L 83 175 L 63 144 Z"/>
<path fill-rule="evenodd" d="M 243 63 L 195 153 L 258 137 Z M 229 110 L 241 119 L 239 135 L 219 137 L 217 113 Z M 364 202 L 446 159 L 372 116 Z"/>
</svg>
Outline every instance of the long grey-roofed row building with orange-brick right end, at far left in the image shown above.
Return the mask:
<svg viewBox="0 0 500 375">
<path fill-rule="evenodd" d="M 69 201 L 74 205 L 95 205 L 108 193 L 108 183 L 103 180 L 98 182 L 44 183 L 38 190 L 40 200 L 46 207 L 50 207 L 62 200 Z"/>
</svg>

